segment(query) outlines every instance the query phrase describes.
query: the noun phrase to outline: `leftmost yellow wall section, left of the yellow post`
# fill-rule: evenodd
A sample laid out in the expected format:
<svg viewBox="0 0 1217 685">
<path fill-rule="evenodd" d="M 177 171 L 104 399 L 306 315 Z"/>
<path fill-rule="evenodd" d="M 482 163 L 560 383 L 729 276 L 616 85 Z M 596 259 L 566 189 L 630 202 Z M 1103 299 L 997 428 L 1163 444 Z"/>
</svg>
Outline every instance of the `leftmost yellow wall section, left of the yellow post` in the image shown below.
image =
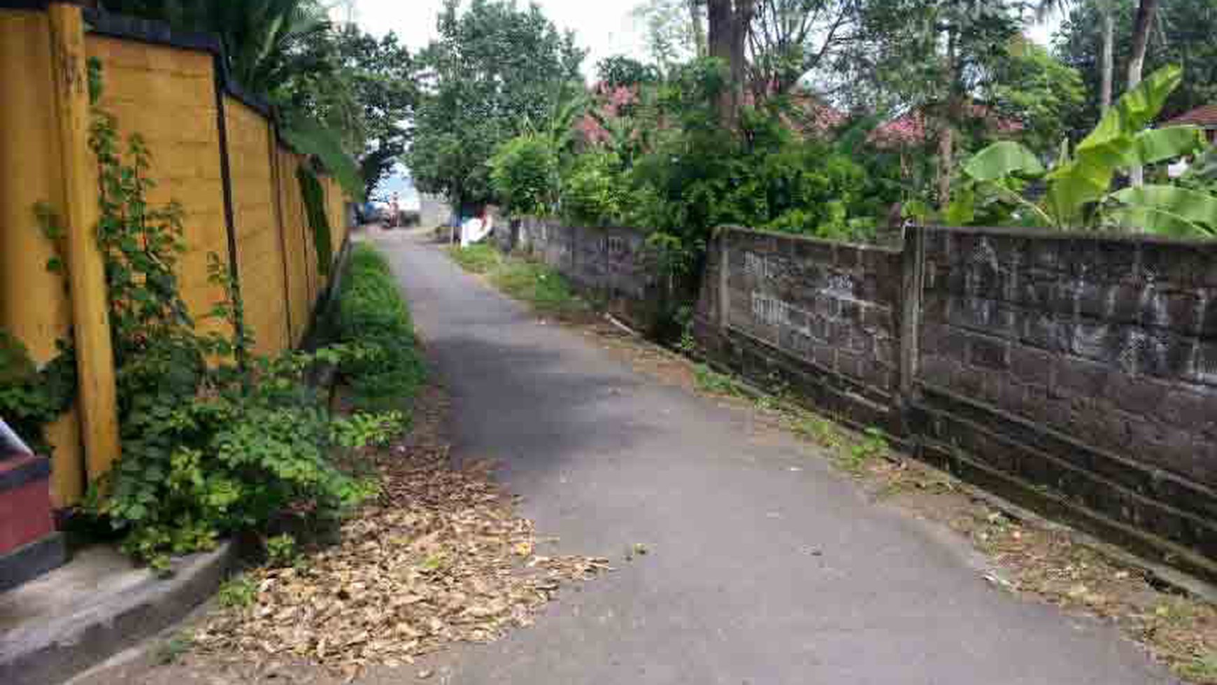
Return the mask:
<svg viewBox="0 0 1217 685">
<path fill-rule="evenodd" d="M 0 12 L 0 327 L 38 364 L 56 356 L 55 342 L 69 339 L 72 324 L 65 275 L 46 269 L 58 249 L 34 215 L 40 202 L 60 215 L 65 209 L 49 30 L 43 12 Z M 47 439 L 55 504 L 75 504 L 85 477 L 74 409 L 47 428 Z"/>
</svg>

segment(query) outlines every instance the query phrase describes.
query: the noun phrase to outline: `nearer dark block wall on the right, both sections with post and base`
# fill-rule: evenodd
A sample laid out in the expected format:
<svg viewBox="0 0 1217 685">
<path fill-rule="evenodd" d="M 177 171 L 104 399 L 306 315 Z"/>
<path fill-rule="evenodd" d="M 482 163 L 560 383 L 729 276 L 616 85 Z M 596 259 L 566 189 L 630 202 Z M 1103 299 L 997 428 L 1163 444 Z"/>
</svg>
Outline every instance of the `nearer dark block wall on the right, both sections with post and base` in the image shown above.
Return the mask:
<svg viewBox="0 0 1217 685">
<path fill-rule="evenodd" d="M 711 359 L 1026 506 L 1217 577 L 1217 245 L 725 229 Z"/>
</svg>

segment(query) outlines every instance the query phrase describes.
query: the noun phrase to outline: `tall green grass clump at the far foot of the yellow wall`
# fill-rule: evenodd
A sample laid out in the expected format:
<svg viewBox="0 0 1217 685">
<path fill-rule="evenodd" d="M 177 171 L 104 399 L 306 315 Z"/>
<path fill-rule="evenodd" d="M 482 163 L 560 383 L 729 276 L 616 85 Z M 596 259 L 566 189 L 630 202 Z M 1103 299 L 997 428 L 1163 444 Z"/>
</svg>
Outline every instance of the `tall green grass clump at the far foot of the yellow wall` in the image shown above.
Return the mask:
<svg viewBox="0 0 1217 685">
<path fill-rule="evenodd" d="M 368 354 L 343 364 L 352 400 L 361 410 L 402 410 L 426 380 L 410 311 L 385 257 L 357 245 L 338 293 L 335 335 Z"/>
</svg>

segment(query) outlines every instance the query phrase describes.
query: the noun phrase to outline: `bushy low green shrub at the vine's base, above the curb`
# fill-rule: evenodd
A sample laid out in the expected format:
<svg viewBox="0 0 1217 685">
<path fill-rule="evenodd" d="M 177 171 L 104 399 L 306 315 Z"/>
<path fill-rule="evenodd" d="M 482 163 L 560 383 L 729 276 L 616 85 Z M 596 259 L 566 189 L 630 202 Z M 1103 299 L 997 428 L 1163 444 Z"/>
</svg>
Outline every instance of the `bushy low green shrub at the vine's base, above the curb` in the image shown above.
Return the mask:
<svg viewBox="0 0 1217 685">
<path fill-rule="evenodd" d="M 122 421 L 123 456 L 88 509 L 125 533 L 123 549 L 164 568 L 170 554 L 214 546 L 295 512 L 329 524 L 376 492 L 340 470 L 332 453 L 383 442 L 399 414 L 332 417 L 303 382 L 315 363 L 359 356 L 326 349 L 254 360 L 248 383 L 213 383 L 175 404 L 138 403 Z"/>
</svg>

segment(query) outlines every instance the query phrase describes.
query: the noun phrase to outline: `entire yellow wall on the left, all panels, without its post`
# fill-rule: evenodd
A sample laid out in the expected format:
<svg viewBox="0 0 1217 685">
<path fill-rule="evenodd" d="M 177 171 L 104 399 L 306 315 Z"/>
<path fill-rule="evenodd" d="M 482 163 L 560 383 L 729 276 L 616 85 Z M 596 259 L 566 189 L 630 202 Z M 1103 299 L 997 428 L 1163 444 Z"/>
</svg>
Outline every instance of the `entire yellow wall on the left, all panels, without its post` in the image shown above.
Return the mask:
<svg viewBox="0 0 1217 685">
<path fill-rule="evenodd" d="M 82 192 L 85 184 L 69 184 L 65 173 L 67 159 L 79 159 L 65 152 L 75 150 L 79 140 L 73 147 L 62 144 L 67 140 L 60 112 L 65 106 L 52 71 L 49 17 L 45 10 L 0 10 L 0 326 L 22 339 L 39 363 L 55 356 L 55 342 L 68 338 L 73 318 L 80 314 L 66 279 L 45 269 L 57 251 L 40 234 L 34 206 L 45 202 L 65 215 L 84 207 L 90 212 L 74 215 L 89 217 L 97 201 L 91 189 Z M 79 18 L 73 21 L 74 35 L 80 35 Z M 101 61 L 100 106 L 116 117 L 124 144 L 130 134 L 139 134 L 151 152 L 150 176 L 157 186 L 150 201 L 175 201 L 184 209 L 183 296 L 200 327 L 215 330 L 219 322 L 203 320 L 223 297 L 223 290 L 209 281 L 208 254 L 226 265 L 229 238 L 214 56 L 88 34 L 84 51 Z M 257 111 L 230 96 L 224 110 L 246 318 L 256 350 L 273 354 L 302 342 L 325 287 L 296 176 L 308 161 L 280 145 L 274 124 Z M 323 186 L 337 256 L 346 236 L 342 193 L 330 178 L 323 176 Z M 83 434 L 75 409 L 49 428 L 55 445 L 52 494 L 58 506 L 80 500 L 85 464 L 103 468 L 113 456 L 112 450 L 86 455 Z"/>
</svg>

